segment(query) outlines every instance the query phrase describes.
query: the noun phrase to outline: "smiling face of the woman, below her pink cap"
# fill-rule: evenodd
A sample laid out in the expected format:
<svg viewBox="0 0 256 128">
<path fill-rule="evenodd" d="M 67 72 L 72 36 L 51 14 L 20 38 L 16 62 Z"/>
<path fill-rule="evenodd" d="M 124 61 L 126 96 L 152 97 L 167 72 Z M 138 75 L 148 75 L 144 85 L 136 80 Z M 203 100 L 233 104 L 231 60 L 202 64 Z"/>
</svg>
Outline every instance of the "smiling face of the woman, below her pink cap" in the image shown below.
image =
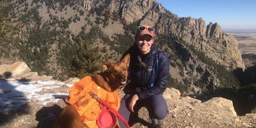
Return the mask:
<svg viewBox="0 0 256 128">
<path fill-rule="evenodd" d="M 147 54 L 150 52 L 151 45 L 154 42 L 154 38 L 151 35 L 143 35 L 137 38 L 137 46 L 142 54 Z"/>
</svg>

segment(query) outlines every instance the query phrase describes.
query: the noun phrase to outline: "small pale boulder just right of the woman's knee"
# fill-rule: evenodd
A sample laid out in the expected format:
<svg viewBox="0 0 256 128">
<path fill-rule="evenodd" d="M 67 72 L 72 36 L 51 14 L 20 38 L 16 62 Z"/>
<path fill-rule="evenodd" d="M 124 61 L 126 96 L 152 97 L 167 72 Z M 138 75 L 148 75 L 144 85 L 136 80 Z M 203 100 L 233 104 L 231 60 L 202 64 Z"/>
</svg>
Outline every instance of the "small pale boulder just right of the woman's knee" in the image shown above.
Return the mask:
<svg viewBox="0 0 256 128">
<path fill-rule="evenodd" d="M 164 99 L 179 99 L 180 98 L 180 91 L 175 88 L 166 88 L 163 93 Z"/>
</svg>

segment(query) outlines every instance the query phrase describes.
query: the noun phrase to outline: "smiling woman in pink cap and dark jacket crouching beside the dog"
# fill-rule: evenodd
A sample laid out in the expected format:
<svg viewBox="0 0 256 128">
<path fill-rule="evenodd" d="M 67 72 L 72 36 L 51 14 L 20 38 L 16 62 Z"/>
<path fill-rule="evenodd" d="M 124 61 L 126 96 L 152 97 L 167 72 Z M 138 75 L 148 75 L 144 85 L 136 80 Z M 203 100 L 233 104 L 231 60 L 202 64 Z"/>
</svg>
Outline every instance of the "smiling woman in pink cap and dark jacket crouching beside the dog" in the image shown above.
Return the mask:
<svg viewBox="0 0 256 128">
<path fill-rule="evenodd" d="M 123 55 L 131 55 L 130 82 L 124 88 L 125 96 L 121 100 L 119 113 L 129 125 L 136 123 L 142 107 L 148 109 L 154 128 L 161 127 L 160 119 L 164 119 L 169 112 L 163 98 L 169 76 L 169 59 L 154 44 L 154 31 L 150 26 L 139 26 L 134 45 Z M 122 121 L 119 120 L 119 123 L 121 128 L 125 128 Z"/>
</svg>

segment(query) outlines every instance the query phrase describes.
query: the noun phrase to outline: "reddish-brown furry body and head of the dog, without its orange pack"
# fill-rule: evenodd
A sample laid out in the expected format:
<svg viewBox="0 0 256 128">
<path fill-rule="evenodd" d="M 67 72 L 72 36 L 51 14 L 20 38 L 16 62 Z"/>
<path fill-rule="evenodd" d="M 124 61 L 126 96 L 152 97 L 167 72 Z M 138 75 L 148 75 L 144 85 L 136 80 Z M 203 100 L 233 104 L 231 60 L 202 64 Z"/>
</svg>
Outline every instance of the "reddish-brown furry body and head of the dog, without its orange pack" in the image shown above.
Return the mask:
<svg viewBox="0 0 256 128">
<path fill-rule="evenodd" d="M 109 92 L 117 91 L 121 85 L 126 84 L 129 62 L 130 54 L 126 55 L 121 62 L 111 64 L 106 61 L 102 64 L 105 71 L 91 78 L 101 88 Z M 88 99 L 81 96 L 80 100 L 75 104 L 85 106 L 88 104 Z M 67 105 L 56 119 L 53 128 L 87 128 L 87 126 L 83 123 L 79 112 L 72 105 Z"/>
</svg>

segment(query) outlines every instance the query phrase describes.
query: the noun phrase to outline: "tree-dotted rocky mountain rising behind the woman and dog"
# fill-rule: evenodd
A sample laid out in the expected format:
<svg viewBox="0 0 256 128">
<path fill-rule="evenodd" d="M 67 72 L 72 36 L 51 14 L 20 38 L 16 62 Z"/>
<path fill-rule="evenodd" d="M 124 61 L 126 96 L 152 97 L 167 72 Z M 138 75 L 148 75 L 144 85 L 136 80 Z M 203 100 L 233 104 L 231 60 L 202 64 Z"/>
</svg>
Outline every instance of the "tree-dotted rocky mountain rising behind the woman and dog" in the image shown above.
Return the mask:
<svg viewBox="0 0 256 128">
<path fill-rule="evenodd" d="M 214 92 L 220 87 L 237 85 L 232 73 L 221 73 L 225 70 L 221 65 L 227 70 L 244 70 L 236 39 L 225 35 L 218 23 L 206 25 L 202 18 L 177 17 L 155 0 L 12 3 L 12 21 L 22 22 L 19 38 L 11 43 L 18 51 L 13 54 L 40 75 L 68 79 L 70 65 L 79 51 L 79 38 L 99 47 L 103 61 L 119 60 L 133 44 L 140 24 L 156 28 L 155 43 L 168 55 L 170 67 L 176 72 L 170 71 L 169 86 L 180 87 L 184 94 Z"/>
</svg>

